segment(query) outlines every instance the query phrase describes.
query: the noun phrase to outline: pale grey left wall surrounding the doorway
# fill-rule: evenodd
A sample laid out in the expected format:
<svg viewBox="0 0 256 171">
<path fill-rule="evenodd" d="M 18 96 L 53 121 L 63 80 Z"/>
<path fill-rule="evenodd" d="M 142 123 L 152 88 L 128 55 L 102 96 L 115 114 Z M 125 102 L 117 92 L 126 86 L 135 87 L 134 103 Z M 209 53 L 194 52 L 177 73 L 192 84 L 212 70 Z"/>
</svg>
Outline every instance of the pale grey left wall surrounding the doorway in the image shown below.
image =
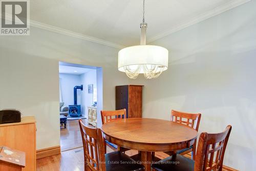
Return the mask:
<svg viewBox="0 0 256 171">
<path fill-rule="evenodd" d="M 59 145 L 59 61 L 102 66 L 103 104 L 115 109 L 115 86 L 129 84 L 117 70 L 118 49 L 31 27 L 30 36 L 0 38 L 0 109 L 37 120 L 37 150 Z"/>
</svg>

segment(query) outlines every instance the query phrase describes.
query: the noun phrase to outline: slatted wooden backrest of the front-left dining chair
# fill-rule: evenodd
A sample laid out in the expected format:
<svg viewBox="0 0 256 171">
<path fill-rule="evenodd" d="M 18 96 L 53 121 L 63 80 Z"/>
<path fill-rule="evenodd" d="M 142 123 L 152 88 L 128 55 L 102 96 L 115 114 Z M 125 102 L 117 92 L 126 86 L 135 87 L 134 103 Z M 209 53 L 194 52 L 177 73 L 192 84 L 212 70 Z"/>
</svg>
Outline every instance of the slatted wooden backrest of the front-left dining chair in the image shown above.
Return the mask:
<svg viewBox="0 0 256 171">
<path fill-rule="evenodd" d="M 79 126 L 83 143 L 84 167 L 92 171 L 105 171 L 104 144 L 101 130 L 85 126 L 82 119 L 79 119 Z M 102 162 L 99 162 L 102 161 Z"/>
</svg>

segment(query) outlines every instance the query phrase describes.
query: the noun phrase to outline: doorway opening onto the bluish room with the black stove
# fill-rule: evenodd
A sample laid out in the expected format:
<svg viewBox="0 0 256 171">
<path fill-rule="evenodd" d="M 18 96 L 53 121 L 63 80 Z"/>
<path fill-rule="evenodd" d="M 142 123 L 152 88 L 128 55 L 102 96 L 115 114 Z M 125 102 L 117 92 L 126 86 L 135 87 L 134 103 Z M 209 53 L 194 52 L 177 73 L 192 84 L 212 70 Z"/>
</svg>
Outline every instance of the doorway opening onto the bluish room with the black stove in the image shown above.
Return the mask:
<svg viewBox="0 0 256 171">
<path fill-rule="evenodd" d="M 89 126 L 97 126 L 102 96 L 101 67 L 59 62 L 61 152 L 82 146 L 79 119 Z"/>
</svg>

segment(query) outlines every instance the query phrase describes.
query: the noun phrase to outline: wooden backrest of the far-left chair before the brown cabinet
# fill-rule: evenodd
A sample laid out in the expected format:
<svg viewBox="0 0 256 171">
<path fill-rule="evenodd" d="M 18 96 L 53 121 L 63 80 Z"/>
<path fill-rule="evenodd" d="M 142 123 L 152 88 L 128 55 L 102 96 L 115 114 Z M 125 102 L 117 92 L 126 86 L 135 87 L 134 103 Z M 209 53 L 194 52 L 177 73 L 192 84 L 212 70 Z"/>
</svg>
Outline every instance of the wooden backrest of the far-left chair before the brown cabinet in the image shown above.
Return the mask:
<svg viewBox="0 0 256 171">
<path fill-rule="evenodd" d="M 115 119 L 126 118 L 126 109 L 112 111 L 101 110 L 100 113 L 102 124 L 108 123 L 109 121 Z"/>
</svg>

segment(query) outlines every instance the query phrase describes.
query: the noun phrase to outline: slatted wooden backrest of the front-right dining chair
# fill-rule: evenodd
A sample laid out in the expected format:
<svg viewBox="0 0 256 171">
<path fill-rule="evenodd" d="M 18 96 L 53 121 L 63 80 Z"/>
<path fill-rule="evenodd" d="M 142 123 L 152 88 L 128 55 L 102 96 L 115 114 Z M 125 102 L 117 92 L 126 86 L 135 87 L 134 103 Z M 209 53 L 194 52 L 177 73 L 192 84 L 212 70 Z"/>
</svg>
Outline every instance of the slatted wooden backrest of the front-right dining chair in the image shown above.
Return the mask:
<svg viewBox="0 0 256 171">
<path fill-rule="evenodd" d="M 231 129 L 232 127 L 229 125 L 222 133 L 201 133 L 194 170 L 222 171 L 224 153 Z"/>
</svg>

